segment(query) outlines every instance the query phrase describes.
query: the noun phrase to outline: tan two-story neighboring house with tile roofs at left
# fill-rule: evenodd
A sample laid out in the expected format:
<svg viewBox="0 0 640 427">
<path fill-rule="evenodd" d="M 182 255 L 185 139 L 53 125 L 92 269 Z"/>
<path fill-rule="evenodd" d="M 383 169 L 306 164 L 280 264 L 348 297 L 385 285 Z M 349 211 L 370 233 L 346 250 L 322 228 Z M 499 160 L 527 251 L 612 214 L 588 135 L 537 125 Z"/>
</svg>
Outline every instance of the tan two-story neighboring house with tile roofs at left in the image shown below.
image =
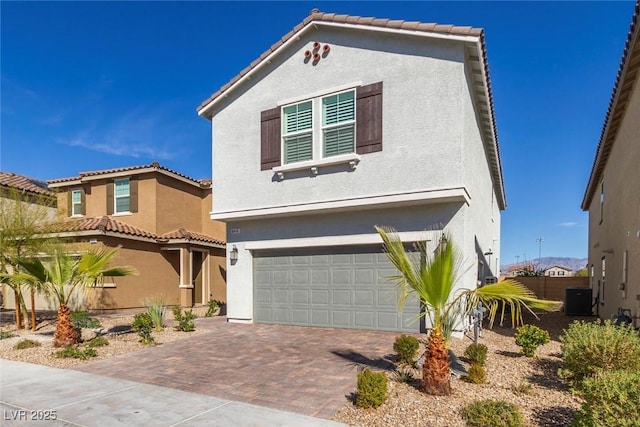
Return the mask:
<svg viewBox="0 0 640 427">
<path fill-rule="evenodd" d="M 153 163 L 48 183 L 65 218 L 58 236 L 120 247 L 116 263 L 139 273 L 107 278 L 89 294 L 89 308 L 141 307 L 150 297 L 184 307 L 225 299 L 225 226 L 209 219 L 210 180 Z"/>
</svg>

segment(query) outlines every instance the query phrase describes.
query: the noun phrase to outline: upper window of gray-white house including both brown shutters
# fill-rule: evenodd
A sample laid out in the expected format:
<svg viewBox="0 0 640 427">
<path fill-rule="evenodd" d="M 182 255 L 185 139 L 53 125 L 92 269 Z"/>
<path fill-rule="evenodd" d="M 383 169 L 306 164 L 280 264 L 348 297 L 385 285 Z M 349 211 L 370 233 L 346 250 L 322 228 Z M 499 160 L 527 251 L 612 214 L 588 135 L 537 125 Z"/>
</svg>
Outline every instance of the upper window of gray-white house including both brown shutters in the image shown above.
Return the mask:
<svg viewBox="0 0 640 427">
<path fill-rule="evenodd" d="M 382 86 L 336 88 L 262 111 L 260 169 L 329 165 L 382 151 Z"/>
</svg>

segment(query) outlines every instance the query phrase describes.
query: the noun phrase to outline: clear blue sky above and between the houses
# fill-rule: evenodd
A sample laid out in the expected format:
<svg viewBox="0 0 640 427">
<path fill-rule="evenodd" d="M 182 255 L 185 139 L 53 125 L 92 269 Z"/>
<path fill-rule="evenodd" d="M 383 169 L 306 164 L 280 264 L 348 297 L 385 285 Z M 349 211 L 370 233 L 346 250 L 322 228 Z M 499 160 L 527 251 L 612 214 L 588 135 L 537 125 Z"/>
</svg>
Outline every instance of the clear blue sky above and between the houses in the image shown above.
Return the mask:
<svg viewBox="0 0 640 427">
<path fill-rule="evenodd" d="M 317 7 L 486 31 L 508 208 L 501 264 L 586 257 L 580 202 L 627 37 L 618 2 L 5 2 L 0 169 L 211 177 L 196 107 Z M 213 174 L 215 179 L 215 174 Z"/>
</svg>

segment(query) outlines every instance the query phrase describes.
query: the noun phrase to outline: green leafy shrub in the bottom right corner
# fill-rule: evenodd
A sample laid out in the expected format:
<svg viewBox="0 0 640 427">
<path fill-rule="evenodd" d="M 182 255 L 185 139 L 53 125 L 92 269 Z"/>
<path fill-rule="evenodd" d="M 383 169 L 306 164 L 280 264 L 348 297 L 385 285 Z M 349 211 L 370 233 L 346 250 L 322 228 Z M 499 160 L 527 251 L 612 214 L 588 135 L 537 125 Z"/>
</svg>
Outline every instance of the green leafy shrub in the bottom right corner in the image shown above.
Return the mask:
<svg viewBox="0 0 640 427">
<path fill-rule="evenodd" d="M 585 378 L 581 394 L 573 426 L 640 426 L 640 371 L 601 371 Z"/>
</svg>

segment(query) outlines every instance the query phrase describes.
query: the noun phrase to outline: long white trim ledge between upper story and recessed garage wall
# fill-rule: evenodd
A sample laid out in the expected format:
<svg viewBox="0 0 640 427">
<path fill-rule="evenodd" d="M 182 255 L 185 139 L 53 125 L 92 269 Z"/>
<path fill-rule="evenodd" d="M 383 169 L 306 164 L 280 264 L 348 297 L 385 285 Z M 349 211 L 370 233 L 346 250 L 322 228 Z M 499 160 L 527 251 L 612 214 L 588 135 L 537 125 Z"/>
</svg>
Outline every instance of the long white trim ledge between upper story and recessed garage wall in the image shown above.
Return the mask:
<svg viewBox="0 0 640 427">
<path fill-rule="evenodd" d="M 388 194 L 382 196 L 359 197 L 353 199 L 332 200 L 324 202 L 302 203 L 298 205 L 273 206 L 268 208 L 213 212 L 213 220 L 246 220 L 267 216 L 289 216 L 310 214 L 322 211 L 346 211 L 358 209 L 374 209 L 377 207 L 463 202 L 467 205 L 471 197 L 465 187 L 438 190 L 423 190 L 410 193 Z"/>
</svg>

